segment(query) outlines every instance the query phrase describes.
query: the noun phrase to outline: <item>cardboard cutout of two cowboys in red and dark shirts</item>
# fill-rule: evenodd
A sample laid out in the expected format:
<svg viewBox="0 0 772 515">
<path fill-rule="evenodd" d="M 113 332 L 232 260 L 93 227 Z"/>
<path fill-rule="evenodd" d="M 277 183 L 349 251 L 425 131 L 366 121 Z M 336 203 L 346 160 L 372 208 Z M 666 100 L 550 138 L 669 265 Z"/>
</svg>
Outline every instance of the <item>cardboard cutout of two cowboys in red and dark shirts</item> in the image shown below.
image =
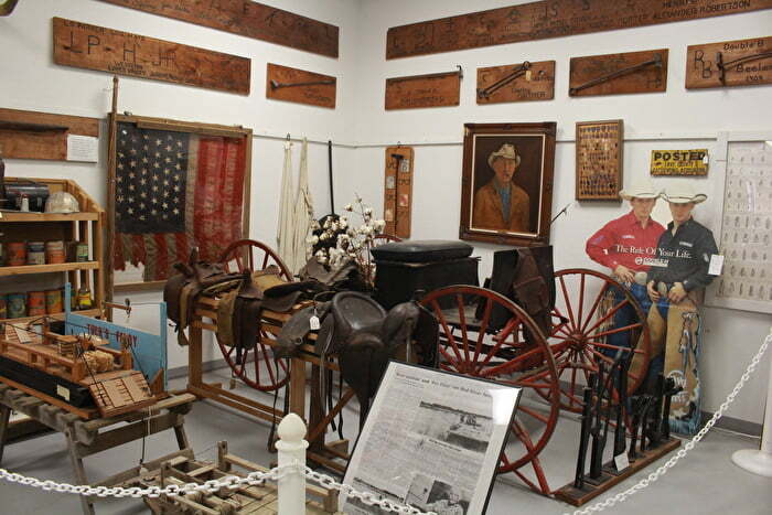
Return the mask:
<svg viewBox="0 0 772 515">
<path fill-rule="evenodd" d="M 630 201 L 632 211 L 593 234 L 587 242 L 587 254 L 608 267 L 647 313 L 652 360 L 643 387 L 652 389 L 663 371 L 665 377 L 673 377 L 676 385 L 683 386 L 673 398 L 671 429 L 694 434 L 700 418 L 697 307 L 703 290 L 712 280 L 708 267 L 717 248 L 710 230 L 694 221 L 691 211 L 707 196 L 695 193 L 689 185 L 668 186 L 661 194 L 651 182 L 636 183 L 620 192 L 620 196 Z M 651 218 L 657 197 L 668 202 L 673 215 L 666 229 Z M 620 292 L 613 294 L 610 307 L 622 301 Z M 633 316 L 632 308 L 621 309 L 613 325 L 630 324 Z M 630 345 L 621 340 L 629 337 L 624 333 L 607 337 L 609 344 Z M 637 375 L 644 365 L 636 355 L 630 371 Z"/>
</svg>

